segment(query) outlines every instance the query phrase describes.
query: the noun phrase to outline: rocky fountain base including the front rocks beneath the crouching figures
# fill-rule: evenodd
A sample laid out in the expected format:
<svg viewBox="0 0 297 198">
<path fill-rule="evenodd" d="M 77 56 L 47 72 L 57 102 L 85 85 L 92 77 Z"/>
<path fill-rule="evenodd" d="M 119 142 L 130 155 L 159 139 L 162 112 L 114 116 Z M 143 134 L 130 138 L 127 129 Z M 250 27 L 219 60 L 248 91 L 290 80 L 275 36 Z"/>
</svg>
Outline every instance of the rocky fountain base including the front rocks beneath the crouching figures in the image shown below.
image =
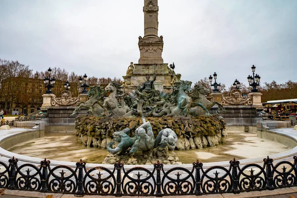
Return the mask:
<svg viewBox="0 0 297 198">
<path fill-rule="evenodd" d="M 148 117 L 151 124 L 154 138 L 165 128 L 172 129 L 177 135 L 176 148 L 194 149 L 207 146 L 215 146 L 221 142 L 221 137 L 226 136 L 225 121 L 221 116 L 198 116 L 198 117 Z M 87 147 L 106 148 L 106 145 L 113 142 L 113 133 L 129 128 L 130 137 L 133 137 L 134 131 L 142 124 L 140 117 L 95 117 L 78 116 L 75 118 L 74 134 L 78 136 L 79 142 Z M 117 144 L 112 145 L 116 148 Z M 174 151 L 165 148 L 153 148 L 149 151 L 138 150 L 131 156 L 125 155 L 106 156 L 102 163 L 113 164 L 116 161 L 122 161 L 125 164 L 152 164 L 159 160 L 164 164 L 180 164 Z"/>
</svg>

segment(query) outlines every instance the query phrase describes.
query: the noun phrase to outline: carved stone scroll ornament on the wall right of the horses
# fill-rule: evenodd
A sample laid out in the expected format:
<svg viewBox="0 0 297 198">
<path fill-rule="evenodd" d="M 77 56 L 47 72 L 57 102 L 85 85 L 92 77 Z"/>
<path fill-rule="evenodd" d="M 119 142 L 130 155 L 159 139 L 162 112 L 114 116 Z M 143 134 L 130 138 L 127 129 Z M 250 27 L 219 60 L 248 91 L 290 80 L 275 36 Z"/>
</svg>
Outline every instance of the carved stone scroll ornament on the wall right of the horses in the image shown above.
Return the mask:
<svg viewBox="0 0 297 198">
<path fill-rule="evenodd" d="M 230 96 L 222 96 L 223 105 L 251 105 L 252 99 L 250 96 L 242 96 L 242 92 L 234 89 L 230 92 Z"/>
</svg>

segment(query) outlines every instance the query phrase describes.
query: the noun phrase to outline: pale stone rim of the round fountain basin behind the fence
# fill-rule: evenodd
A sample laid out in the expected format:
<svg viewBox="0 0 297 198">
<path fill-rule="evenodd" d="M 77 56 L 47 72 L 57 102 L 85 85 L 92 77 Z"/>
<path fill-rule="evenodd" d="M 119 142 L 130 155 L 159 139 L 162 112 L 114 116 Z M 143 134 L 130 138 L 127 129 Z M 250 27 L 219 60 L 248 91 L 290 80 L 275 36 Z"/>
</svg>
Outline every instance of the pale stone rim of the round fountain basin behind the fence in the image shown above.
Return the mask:
<svg viewBox="0 0 297 198">
<path fill-rule="evenodd" d="M 228 129 L 228 128 L 227 128 Z M 234 130 L 234 129 L 233 129 Z M 12 144 L 19 143 L 22 140 L 28 140 L 31 138 L 39 138 L 43 135 L 44 132 L 42 131 L 37 131 L 37 130 L 29 130 L 29 129 L 20 129 L 20 128 L 12 128 L 11 130 L 7 130 L 5 133 L 1 133 L 0 136 L 0 153 L 1 153 L 1 160 L 2 161 L 8 161 L 9 158 L 12 156 L 15 156 L 16 158 L 19 159 L 20 163 L 34 163 L 34 164 L 39 164 L 42 158 L 37 158 L 37 157 L 30 157 L 30 156 L 25 156 L 22 154 L 16 154 L 10 151 L 5 150 L 4 148 L 9 147 L 9 145 L 12 146 Z M 243 132 L 244 133 L 244 132 Z M 260 132 L 258 132 L 260 133 Z M 266 133 L 266 136 L 268 134 L 271 134 L 271 137 L 275 136 L 276 134 L 282 138 L 276 138 L 275 140 L 280 140 L 280 139 L 286 139 L 289 142 L 291 142 L 292 145 L 290 145 L 290 148 L 294 147 L 297 145 L 297 135 L 294 133 L 293 128 L 282 128 L 282 129 L 275 129 L 275 130 L 269 130 L 269 131 L 264 131 Z M 26 138 L 27 137 L 27 138 Z M 265 138 L 265 137 L 263 137 Z M 282 141 L 283 141 L 282 140 Z M 290 143 L 290 144 L 291 144 Z M 294 144 L 295 143 L 295 144 Z M 291 157 L 297 153 L 297 147 L 294 147 L 292 149 L 289 149 L 284 152 L 276 153 L 276 154 L 270 154 L 270 158 L 274 159 L 284 159 L 287 157 Z M 265 154 L 266 155 L 266 154 Z M 46 156 L 45 156 L 46 157 Z M 241 164 L 246 164 L 246 163 L 258 163 L 262 162 L 262 159 L 266 156 L 261 156 L 257 158 L 248 158 L 248 159 L 241 159 L 240 162 Z M 292 158 L 292 157 L 291 157 Z M 77 159 L 77 161 L 79 158 Z M 229 159 L 230 160 L 230 159 Z M 210 167 L 214 165 L 220 165 L 220 166 L 229 166 L 229 160 L 226 161 L 220 161 L 220 162 L 208 162 L 208 163 L 203 163 L 203 167 Z M 201 160 L 203 162 L 203 159 Z M 71 167 L 75 167 L 75 162 L 67 162 L 67 161 L 59 161 L 59 160 L 51 160 L 51 165 L 58 165 L 58 164 L 63 164 L 63 165 L 68 165 Z M 107 167 L 110 169 L 113 169 L 113 165 L 109 164 L 94 164 L 94 163 L 87 163 L 87 167 L 94 167 L 94 166 L 103 166 Z M 142 167 L 152 169 L 153 167 L 151 165 L 141 165 Z M 172 167 L 175 167 L 176 165 L 166 165 L 166 169 L 170 169 Z M 180 167 L 185 167 L 192 169 L 193 165 L 192 163 L 190 164 L 182 164 L 178 165 Z M 125 165 L 127 168 L 132 168 L 135 167 L 135 165 Z"/>
</svg>

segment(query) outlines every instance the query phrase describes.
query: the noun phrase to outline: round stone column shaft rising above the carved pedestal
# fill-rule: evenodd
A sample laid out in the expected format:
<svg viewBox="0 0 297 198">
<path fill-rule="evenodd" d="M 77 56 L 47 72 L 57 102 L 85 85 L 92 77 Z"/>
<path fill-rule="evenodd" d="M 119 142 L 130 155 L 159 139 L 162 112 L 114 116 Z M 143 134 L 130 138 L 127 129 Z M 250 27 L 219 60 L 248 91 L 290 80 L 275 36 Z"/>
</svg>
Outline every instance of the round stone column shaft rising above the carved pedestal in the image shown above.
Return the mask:
<svg viewBox="0 0 297 198">
<path fill-rule="evenodd" d="M 145 0 L 145 37 L 158 38 L 158 0 Z"/>
</svg>

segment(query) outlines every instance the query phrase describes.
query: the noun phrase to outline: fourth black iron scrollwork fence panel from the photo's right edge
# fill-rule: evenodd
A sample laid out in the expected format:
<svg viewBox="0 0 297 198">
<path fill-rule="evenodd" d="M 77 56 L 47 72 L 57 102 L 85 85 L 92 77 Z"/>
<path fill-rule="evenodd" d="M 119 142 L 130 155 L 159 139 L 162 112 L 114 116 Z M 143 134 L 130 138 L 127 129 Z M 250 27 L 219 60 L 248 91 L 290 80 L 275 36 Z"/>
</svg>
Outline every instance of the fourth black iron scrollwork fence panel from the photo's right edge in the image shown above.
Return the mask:
<svg viewBox="0 0 297 198">
<path fill-rule="evenodd" d="M 175 167 L 171 168 L 167 172 L 163 171 L 162 190 L 164 194 L 194 194 L 195 178 L 193 171 L 189 171 L 186 168 Z M 171 176 L 169 176 L 171 175 Z"/>
</svg>

